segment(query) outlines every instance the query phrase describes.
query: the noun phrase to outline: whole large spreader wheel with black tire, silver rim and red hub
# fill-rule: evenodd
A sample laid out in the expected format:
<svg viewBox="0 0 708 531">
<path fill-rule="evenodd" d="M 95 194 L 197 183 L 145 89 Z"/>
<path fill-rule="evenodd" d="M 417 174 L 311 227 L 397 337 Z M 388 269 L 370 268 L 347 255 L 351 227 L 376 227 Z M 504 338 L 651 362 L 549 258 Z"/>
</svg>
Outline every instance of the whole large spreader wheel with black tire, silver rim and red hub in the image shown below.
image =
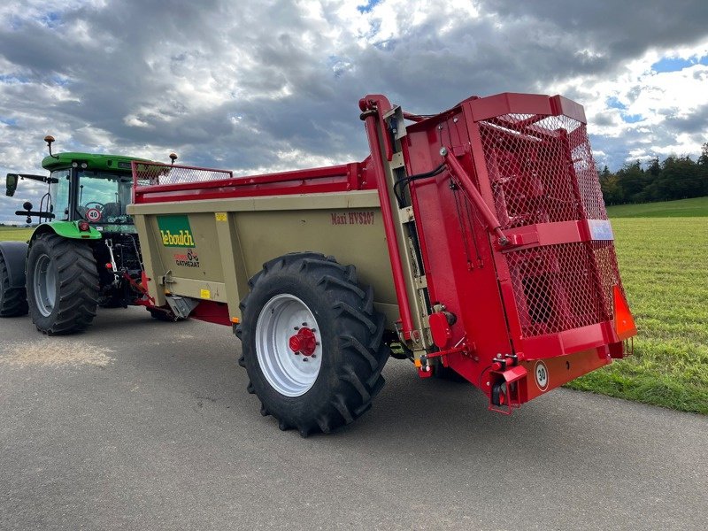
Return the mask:
<svg viewBox="0 0 708 531">
<path fill-rule="evenodd" d="M 389 348 L 373 290 L 358 286 L 356 268 L 293 253 L 264 264 L 249 285 L 236 335 L 261 413 L 307 436 L 366 412 L 383 387 Z"/>
</svg>

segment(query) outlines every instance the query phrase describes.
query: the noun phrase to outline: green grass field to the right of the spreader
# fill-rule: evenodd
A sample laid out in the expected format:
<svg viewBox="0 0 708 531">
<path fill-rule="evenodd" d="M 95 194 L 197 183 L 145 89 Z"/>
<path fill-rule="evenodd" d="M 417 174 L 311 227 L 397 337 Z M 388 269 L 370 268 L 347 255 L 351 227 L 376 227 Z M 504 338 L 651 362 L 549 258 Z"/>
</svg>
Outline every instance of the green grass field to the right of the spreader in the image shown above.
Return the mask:
<svg viewBox="0 0 708 531">
<path fill-rule="evenodd" d="M 708 217 L 691 209 L 708 216 L 708 198 L 610 210 L 635 353 L 568 387 L 708 414 Z"/>
</svg>

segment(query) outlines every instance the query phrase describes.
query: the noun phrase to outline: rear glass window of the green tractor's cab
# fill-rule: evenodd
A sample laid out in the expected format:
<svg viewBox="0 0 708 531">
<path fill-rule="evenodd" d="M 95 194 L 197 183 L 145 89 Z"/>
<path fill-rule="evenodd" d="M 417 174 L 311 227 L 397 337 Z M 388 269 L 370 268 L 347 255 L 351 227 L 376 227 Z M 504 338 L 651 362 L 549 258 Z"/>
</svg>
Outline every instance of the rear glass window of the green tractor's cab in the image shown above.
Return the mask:
<svg viewBox="0 0 708 531">
<path fill-rule="evenodd" d="M 130 175 L 79 172 L 78 214 L 89 223 L 132 224 L 126 213 L 132 184 Z"/>
</svg>

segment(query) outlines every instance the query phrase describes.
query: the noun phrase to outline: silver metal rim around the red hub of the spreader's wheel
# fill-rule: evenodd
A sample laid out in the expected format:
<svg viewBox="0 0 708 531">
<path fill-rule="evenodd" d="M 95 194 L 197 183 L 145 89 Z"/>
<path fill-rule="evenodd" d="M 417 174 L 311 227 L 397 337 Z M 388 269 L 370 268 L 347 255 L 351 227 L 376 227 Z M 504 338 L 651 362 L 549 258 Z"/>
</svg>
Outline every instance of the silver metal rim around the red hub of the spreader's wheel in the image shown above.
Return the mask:
<svg viewBox="0 0 708 531">
<path fill-rule="evenodd" d="M 308 355 L 298 354 L 290 347 L 290 339 L 302 328 L 312 331 L 317 339 Z M 273 389 L 284 396 L 302 396 L 312 389 L 322 365 L 319 338 L 312 311 L 296 296 L 276 295 L 263 306 L 256 323 L 256 356 Z"/>
</svg>

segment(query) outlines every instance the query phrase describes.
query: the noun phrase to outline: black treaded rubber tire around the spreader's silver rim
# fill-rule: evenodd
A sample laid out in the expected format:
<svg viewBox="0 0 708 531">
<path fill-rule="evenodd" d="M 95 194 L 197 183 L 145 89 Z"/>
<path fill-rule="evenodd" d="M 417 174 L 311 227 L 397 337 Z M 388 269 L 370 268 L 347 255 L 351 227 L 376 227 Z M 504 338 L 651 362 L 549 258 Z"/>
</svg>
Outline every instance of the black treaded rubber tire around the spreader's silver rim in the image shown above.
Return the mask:
<svg viewBox="0 0 708 531">
<path fill-rule="evenodd" d="M 358 286 L 356 268 L 341 266 L 335 258 L 318 253 L 293 253 L 264 264 L 249 285 L 236 335 L 242 340 L 239 362 L 249 374 L 249 392 L 262 403 L 261 413 L 273 415 L 282 430 L 294 427 L 307 436 L 315 431 L 329 433 L 366 412 L 383 387 L 381 369 L 389 358 L 389 347 L 381 341 L 384 318 L 373 310 L 373 290 Z M 317 325 L 312 331 L 321 344 L 317 350 L 319 373 L 312 387 L 299 396 L 287 396 L 276 389 L 266 378 L 269 373 L 273 379 L 273 369 L 266 366 L 265 373 L 258 359 L 257 342 L 263 344 L 258 338 L 264 337 L 262 330 L 270 326 L 268 319 L 277 319 L 269 317 L 264 307 L 273 309 L 275 297 L 297 299 Z M 258 335 L 261 316 L 264 324 Z M 296 333 L 289 330 L 287 335 Z M 271 355 L 262 350 L 261 358 Z"/>
</svg>

